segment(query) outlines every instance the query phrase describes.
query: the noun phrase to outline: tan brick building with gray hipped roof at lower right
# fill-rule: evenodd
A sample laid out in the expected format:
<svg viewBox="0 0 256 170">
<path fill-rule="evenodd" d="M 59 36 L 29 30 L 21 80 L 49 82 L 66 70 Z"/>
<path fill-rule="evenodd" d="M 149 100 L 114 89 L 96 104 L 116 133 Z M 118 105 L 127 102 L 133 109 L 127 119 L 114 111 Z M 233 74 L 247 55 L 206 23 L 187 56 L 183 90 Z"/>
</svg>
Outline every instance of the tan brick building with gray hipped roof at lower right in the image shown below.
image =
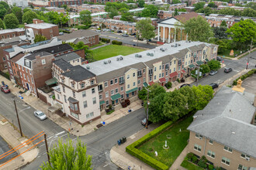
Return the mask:
<svg viewBox="0 0 256 170">
<path fill-rule="evenodd" d="M 223 86 L 189 125 L 189 152 L 227 170 L 256 168 L 253 93 Z"/>
</svg>

